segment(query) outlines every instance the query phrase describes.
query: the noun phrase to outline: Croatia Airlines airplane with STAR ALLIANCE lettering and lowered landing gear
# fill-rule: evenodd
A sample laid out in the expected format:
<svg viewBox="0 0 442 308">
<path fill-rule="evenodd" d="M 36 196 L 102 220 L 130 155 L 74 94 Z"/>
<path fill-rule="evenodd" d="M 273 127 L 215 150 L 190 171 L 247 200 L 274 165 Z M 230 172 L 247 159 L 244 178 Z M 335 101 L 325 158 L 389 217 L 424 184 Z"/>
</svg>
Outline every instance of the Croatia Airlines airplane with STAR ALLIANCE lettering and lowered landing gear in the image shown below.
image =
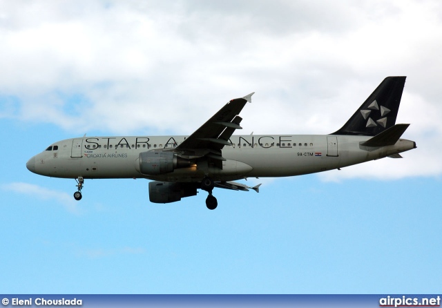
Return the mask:
<svg viewBox="0 0 442 308">
<path fill-rule="evenodd" d="M 206 191 L 215 209 L 216 188 L 259 192 L 233 182 L 248 177 L 288 177 L 401 158 L 416 142 L 401 139 L 410 124 L 396 124 L 405 76 L 386 77 L 342 128 L 328 135 L 233 135 L 253 93 L 232 99 L 189 136 L 76 137 L 55 142 L 27 163 L 29 171 L 77 181 L 144 178 L 153 203 L 177 202 Z"/>
</svg>

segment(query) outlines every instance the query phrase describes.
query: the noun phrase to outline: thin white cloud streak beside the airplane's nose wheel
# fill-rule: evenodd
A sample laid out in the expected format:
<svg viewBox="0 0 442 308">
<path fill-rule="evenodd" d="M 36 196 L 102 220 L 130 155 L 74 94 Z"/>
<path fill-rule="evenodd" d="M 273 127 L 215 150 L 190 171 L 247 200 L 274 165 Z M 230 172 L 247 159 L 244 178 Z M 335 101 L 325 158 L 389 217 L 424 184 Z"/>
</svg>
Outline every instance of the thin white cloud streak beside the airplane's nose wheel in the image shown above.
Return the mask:
<svg viewBox="0 0 442 308">
<path fill-rule="evenodd" d="M 79 208 L 75 203 L 76 201 L 74 201 L 72 195 L 69 195 L 68 193 L 53 191 L 51 189 L 46 189 L 45 187 L 23 182 L 2 184 L 0 187 L 4 191 L 13 191 L 23 195 L 30 195 L 32 198 L 37 198 L 39 200 L 48 200 L 50 201 L 50 204 L 59 203 L 70 213 L 79 214 Z"/>
</svg>

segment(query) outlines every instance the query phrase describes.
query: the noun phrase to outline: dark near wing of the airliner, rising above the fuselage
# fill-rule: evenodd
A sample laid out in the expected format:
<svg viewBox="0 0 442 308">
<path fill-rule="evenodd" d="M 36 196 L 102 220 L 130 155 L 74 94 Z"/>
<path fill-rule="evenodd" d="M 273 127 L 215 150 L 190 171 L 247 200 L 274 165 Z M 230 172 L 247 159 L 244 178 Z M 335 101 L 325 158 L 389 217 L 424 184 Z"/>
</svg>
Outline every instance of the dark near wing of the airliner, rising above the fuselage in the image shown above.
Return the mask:
<svg viewBox="0 0 442 308">
<path fill-rule="evenodd" d="M 241 129 L 239 124 L 242 118 L 239 113 L 247 102 L 251 102 L 253 94 L 254 92 L 242 98 L 232 99 L 174 151 L 183 157 L 206 156 L 222 163 L 225 159 L 221 150 L 224 146 L 231 145 L 229 138 L 236 129 Z"/>
</svg>

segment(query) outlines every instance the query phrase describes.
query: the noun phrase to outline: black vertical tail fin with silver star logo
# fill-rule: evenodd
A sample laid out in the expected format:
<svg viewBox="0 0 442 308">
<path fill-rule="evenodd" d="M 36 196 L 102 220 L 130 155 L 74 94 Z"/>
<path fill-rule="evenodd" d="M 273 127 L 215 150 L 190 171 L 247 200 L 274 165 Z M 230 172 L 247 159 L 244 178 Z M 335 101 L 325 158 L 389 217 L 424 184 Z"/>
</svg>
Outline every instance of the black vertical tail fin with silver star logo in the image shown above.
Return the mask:
<svg viewBox="0 0 442 308">
<path fill-rule="evenodd" d="M 331 135 L 375 136 L 394 126 L 405 78 L 407 77 L 385 78 L 347 123 Z"/>
</svg>

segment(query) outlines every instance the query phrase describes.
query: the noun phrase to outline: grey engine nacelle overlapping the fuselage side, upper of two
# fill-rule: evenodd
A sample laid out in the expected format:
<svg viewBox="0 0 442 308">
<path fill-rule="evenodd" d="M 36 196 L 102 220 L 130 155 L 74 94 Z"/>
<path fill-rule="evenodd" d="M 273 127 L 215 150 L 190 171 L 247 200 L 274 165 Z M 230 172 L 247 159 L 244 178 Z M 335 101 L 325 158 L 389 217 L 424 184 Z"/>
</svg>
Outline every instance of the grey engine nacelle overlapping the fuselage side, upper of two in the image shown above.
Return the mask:
<svg viewBox="0 0 442 308">
<path fill-rule="evenodd" d="M 145 175 L 169 173 L 175 169 L 190 166 L 189 160 L 173 152 L 149 151 L 140 153 L 140 173 Z"/>
</svg>

